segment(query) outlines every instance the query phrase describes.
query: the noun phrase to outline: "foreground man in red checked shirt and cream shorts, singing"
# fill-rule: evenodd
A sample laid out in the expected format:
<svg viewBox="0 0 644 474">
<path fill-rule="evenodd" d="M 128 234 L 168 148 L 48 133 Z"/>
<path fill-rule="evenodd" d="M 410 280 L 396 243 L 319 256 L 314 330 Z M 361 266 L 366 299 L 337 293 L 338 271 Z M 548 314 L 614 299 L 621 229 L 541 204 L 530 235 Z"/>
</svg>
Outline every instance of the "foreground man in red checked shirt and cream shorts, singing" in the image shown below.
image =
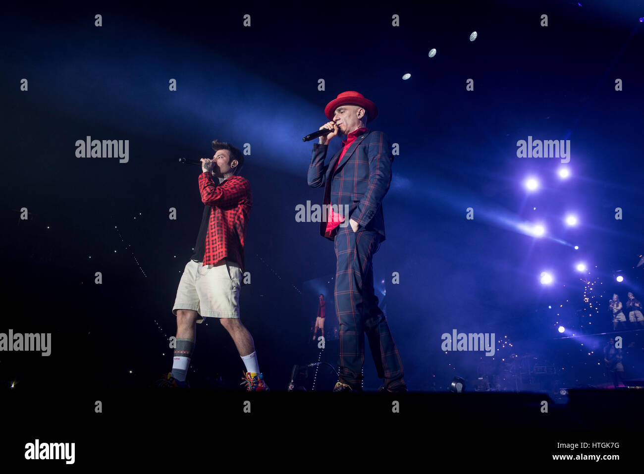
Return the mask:
<svg viewBox="0 0 644 474">
<path fill-rule="evenodd" d="M 269 390 L 257 361 L 251 333 L 240 321 L 239 296 L 244 269 L 244 238 L 252 207 L 251 185 L 238 176 L 242 152 L 213 141 L 213 159 L 202 158 L 199 193 L 205 205 L 194 254 L 176 292 L 176 348 L 172 372 L 162 386 L 184 387 L 194 352 L 196 325 L 219 318 L 242 357 L 249 391 Z M 217 181 L 213 178 L 217 178 Z"/>
</svg>

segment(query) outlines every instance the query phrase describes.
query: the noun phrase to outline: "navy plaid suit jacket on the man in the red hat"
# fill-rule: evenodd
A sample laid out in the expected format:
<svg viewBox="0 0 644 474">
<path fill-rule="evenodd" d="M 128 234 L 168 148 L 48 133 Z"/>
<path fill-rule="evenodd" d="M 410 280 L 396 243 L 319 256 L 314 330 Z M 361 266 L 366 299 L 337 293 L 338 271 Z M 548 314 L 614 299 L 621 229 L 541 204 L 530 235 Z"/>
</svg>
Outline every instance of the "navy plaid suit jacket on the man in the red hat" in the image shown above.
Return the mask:
<svg viewBox="0 0 644 474">
<path fill-rule="evenodd" d="M 335 173 L 342 149 L 325 165 L 327 149 L 328 145 L 313 144 L 308 185 L 325 186 L 323 204 L 340 204 L 341 209 L 348 205 L 348 216 L 358 223 L 358 229 L 378 232 L 383 242 L 383 198 L 392 182 L 393 154 L 389 138 L 381 131 L 366 131 L 355 138 Z M 327 222 L 323 220 L 320 222 L 323 237 L 326 228 Z"/>
</svg>

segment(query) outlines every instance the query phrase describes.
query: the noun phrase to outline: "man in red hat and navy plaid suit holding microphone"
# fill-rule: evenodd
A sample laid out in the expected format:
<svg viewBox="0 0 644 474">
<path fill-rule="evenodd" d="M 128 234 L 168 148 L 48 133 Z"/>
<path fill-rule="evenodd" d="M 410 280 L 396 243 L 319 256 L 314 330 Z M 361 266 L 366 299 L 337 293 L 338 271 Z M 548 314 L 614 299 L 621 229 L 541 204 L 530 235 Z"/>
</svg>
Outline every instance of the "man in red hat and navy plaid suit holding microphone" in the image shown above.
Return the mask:
<svg viewBox="0 0 644 474">
<path fill-rule="evenodd" d="M 374 102 L 362 94 L 339 94 L 325 108 L 331 121 L 320 129 L 327 128 L 329 133 L 313 145 L 308 168 L 308 185 L 325 186 L 323 209 L 328 209 L 328 215 L 320 223 L 320 234 L 334 242 L 337 258 L 340 374 L 334 392 L 362 391 L 363 333 L 378 376 L 384 379 L 379 391 L 407 391 L 403 363 L 374 294 L 372 257 L 384 240 L 382 201 L 392 180 L 393 161 L 386 135 L 366 128 L 377 114 Z M 336 135 L 346 135 L 346 140 L 325 165 L 328 142 Z M 348 214 L 343 216 L 336 209 L 348 209 Z"/>
</svg>

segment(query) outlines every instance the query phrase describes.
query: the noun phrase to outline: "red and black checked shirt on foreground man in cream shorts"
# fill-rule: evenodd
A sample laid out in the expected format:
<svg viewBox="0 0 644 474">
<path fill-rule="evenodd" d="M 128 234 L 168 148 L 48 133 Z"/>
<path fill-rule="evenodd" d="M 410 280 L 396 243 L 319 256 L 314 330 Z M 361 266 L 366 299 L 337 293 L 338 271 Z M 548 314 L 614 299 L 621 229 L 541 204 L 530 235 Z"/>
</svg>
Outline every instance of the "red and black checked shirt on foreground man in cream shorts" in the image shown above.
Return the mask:
<svg viewBox="0 0 644 474">
<path fill-rule="evenodd" d="M 203 265 L 213 265 L 228 258 L 239 263 L 243 272 L 243 242 L 252 207 L 251 184 L 242 176 L 231 176 L 218 185 L 207 172 L 199 175 L 199 193 L 202 202 L 213 207 Z"/>
</svg>

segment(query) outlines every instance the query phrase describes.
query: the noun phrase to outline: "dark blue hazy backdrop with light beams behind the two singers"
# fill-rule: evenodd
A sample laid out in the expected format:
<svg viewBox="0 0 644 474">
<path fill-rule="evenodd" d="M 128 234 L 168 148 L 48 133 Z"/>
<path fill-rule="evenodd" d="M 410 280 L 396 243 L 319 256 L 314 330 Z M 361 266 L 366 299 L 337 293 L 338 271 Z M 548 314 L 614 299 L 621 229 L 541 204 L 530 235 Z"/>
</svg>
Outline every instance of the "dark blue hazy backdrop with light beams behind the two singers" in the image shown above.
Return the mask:
<svg viewBox="0 0 644 474">
<path fill-rule="evenodd" d="M 374 100 L 380 113 L 370 129 L 400 146 L 374 276 L 410 390 L 445 390 L 454 375 L 472 383 L 483 373 L 496 375 L 501 390 L 608 382 L 600 364 L 607 337 L 562 340 L 556 327 L 565 325 L 564 336 L 606 332 L 612 292 L 644 299 L 636 267 L 644 251 L 641 1 L 9 8 L 0 32 L 0 332 L 51 332 L 52 355 L 0 353 L 5 384 L 149 386 L 170 370 L 171 308 L 203 209 L 200 169 L 177 160 L 211 157 L 219 138 L 251 144 L 243 175 L 254 196 L 252 282 L 242 289 L 242 321 L 272 390 L 285 390 L 294 364 L 318 359 L 307 345 L 320 292 L 310 282 L 330 281 L 335 270 L 318 224 L 294 219 L 296 205 L 321 204 L 323 191 L 307 186 L 312 145 L 301 137 L 327 122 L 325 105 L 345 90 Z M 392 27 L 392 14 L 401 26 Z M 469 78 L 474 91 L 466 91 Z M 614 90 L 616 78 L 623 91 Z M 75 142 L 87 135 L 129 140 L 129 162 L 77 158 Z M 516 142 L 528 135 L 571 140 L 573 176 L 556 178 L 556 158 L 517 158 Z M 339 146 L 334 139 L 328 156 Z M 543 186 L 529 196 L 527 173 Z M 567 211 L 578 213 L 578 227 L 564 228 Z M 516 229 L 534 219 L 547 223 L 547 237 Z M 573 268 L 580 259 L 603 285 L 592 316 Z M 539 283 L 545 269 L 555 274 L 551 287 Z M 582 327 L 584 314 L 595 318 L 592 330 Z M 494 361 L 446 354 L 440 336 L 453 328 L 511 343 L 497 343 Z M 625 336 L 636 343 L 625 359 L 633 378 L 644 375 L 637 334 Z M 336 357 L 329 341 L 323 359 L 333 365 Z M 556 375 L 518 386 L 506 362 L 519 357 L 556 366 Z M 217 321 L 198 326 L 191 366 L 197 387 L 217 377 L 236 385 L 243 370 Z M 380 383 L 367 353 L 365 389 Z"/>
</svg>

